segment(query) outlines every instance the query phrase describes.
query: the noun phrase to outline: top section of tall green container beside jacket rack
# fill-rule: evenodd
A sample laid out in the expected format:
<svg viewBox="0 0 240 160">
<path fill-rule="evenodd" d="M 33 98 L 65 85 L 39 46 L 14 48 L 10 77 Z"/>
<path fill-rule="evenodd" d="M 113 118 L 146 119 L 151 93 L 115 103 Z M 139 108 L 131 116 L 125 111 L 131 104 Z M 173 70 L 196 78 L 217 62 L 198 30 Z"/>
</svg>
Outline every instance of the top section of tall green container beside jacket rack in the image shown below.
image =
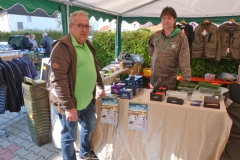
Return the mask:
<svg viewBox="0 0 240 160">
<path fill-rule="evenodd" d="M 36 101 L 47 97 L 46 82 L 43 80 L 32 80 L 24 77 L 22 83 L 24 98 L 30 101 Z"/>
</svg>

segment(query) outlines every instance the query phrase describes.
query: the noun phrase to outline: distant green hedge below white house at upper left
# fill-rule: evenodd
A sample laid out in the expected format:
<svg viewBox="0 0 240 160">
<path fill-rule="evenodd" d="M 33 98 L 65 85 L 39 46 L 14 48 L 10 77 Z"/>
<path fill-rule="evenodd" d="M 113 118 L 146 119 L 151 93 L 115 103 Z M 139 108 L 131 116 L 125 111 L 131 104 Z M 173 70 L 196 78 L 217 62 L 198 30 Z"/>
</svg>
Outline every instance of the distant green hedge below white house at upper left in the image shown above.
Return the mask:
<svg viewBox="0 0 240 160">
<path fill-rule="evenodd" d="M 63 36 L 62 31 L 57 31 L 57 30 L 21 30 L 21 31 L 11 31 L 11 32 L 0 31 L 0 42 L 8 42 L 8 39 L 11 35 L 15 35 L 15 34 L 24 35 L 25 32 L 29 32 L 30 34 L 35 34 L 38 45 L 40 45 L 43 32 L 46 32 L 54 40 L 57 40 Z"/>
</svg>

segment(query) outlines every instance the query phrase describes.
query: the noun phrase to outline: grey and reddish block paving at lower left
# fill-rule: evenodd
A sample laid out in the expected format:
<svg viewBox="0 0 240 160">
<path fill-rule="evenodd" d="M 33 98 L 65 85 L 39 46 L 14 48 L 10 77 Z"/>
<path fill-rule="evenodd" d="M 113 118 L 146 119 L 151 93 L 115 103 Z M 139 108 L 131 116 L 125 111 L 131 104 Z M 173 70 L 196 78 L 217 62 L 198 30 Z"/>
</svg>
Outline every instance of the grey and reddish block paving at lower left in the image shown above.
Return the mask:
<svg viewBox="0 0 240 160">
<path fill-rule="evenodd" d="M 24 107 L 19 113 L 0 114 L 0 130 L 7 132 L 7 137 L 0 135 L 0 160 L 62 160 L 52 143 L 38 147 L 32 142 Z"/>
</svg>

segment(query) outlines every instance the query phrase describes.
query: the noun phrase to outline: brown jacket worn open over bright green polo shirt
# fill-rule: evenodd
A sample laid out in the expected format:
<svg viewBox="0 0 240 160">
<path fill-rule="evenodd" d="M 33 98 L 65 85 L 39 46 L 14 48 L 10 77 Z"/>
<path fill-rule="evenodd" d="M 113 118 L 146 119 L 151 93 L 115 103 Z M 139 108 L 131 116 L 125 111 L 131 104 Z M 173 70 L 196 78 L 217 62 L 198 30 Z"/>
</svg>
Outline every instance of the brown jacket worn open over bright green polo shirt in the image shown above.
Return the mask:
<svg viewBox="0 0 240 160">
<path fill-rule="evenodd" d="M 97 84 L 100 88 L 104 88 L 103 81 L 99 73 L 96 52 L 89 40 L 87 40 L 86 43 L 94 57 Z M 52 69 L 50 77 L 50 101 L 52 106 L 55 107 L 59 113 L 65 114 L 65 109 L 69 110 L 76 108 L 77 106 L 77 101 L 74 96 L 77 53 L 72 44 L 70 34 L 53 43 L 50 61 Z M 93 102 L 95 102 L 95 93 L 96 89 L 93 90 Z"/>
</svg>

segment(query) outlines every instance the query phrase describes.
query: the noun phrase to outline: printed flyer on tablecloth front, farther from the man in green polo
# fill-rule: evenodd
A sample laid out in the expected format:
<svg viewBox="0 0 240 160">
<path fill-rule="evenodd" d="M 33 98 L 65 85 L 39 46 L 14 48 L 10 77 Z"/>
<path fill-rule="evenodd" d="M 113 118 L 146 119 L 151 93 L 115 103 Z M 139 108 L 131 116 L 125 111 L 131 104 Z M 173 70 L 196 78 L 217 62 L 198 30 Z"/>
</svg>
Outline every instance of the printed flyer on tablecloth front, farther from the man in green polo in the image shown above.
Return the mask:
<svg viewBox="0 0 240 160">
<path fill-rule="evenodd" d="M 129 103 L 128 129 L 147 131 L 147 108 L 146 104 Z"/>
</svg>

